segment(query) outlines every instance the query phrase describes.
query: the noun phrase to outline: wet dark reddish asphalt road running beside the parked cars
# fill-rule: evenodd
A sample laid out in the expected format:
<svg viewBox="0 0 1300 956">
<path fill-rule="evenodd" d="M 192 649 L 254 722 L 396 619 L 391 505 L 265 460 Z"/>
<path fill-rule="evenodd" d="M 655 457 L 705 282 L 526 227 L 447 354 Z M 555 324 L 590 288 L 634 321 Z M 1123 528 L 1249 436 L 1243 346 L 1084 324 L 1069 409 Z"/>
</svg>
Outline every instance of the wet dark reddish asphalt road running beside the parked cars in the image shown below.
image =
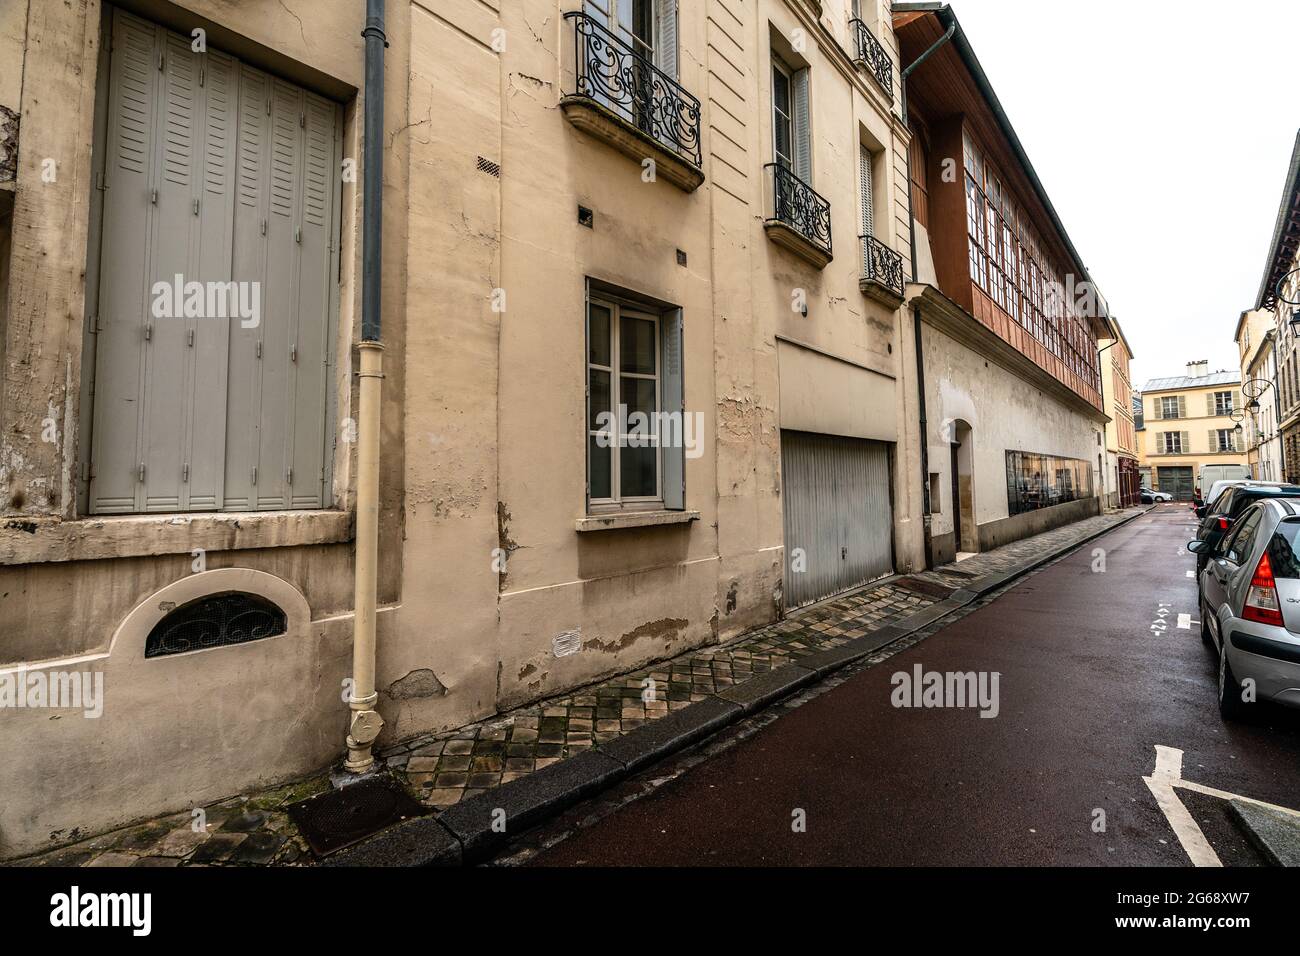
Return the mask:
<svg viewBox="0 0 1300 956">
<path fill-rule="evenodd" d="M 1225 723 L 1214 653 L 1176 627 L 1199 619 L 1192 532 L 1160 506 L 520 862 L 1187 865 L 1141 779 L 1154 745 L 1184 752 L 1186 779 L 1300 808 L 1297 715 Z M 892 706 L 916 663 L 998 672 L 998 715 Z M 1249 862 L 1216 803 L 1193 808 L 1206 836 Z"/>
</svg>

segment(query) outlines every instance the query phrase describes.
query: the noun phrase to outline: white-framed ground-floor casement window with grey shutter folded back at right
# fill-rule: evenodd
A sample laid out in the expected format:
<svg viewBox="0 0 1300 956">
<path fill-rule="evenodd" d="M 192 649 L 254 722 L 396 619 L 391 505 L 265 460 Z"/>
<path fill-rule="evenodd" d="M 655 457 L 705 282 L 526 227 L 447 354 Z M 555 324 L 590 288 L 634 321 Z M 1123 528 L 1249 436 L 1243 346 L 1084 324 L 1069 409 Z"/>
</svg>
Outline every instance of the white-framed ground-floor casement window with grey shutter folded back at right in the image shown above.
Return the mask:
<svg viewBox="0 0 1300 956">
<path fill-rule="evenodd" d="M 684 509 L 681 310 L 593 291 L 586 350 L 589 510 Z"/>
</svg>

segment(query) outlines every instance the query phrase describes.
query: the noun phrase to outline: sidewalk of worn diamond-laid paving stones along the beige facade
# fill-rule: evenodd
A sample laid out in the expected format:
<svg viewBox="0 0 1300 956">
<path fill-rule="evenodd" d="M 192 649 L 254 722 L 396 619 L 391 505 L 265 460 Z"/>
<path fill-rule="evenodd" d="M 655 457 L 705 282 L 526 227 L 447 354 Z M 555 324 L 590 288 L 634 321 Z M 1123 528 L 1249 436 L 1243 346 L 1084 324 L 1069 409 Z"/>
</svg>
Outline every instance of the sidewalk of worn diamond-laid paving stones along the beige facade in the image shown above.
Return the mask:
<svg viewBox="0 0 1300 956">
<path fill-rule="evenodd" d="M 382 756 L 416 799 L 439 812 L 732 684 L 900 622 L 953 591 L 975 587 L 982 578 L 1050 558 L 1134 514 L 1135 510 L 1098 515 L 935 571 L 868 584 L 724 645 L 688 652 L 456 731 L 407 740 Z M 646 693 L 649 682 L 654 682 L 653 695 Z M 328 777 L 321 774 L 290 787 L 204 808 L 198 823 L 194 813 L 178 813 L 29 857 L 18 865 L 311 864 L 307 844 L 285 808 L 328 787 Z"/>
</svg>

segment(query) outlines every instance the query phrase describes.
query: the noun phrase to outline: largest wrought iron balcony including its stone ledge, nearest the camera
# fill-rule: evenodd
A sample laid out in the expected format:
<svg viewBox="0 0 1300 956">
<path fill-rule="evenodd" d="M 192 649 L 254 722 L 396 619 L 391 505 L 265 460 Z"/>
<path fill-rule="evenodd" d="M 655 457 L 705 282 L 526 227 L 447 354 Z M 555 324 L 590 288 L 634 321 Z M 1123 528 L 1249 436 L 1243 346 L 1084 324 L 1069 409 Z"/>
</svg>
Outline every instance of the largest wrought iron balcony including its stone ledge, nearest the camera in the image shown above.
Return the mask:
<svg viewBox="0 0 1300 956">
<path fill-rule="evenodd" d="M 593 17 L 569 12 L 573 86 L 560 100 L 569 122 L 688 191 L 705 179 L 699 100 Z"/>
</svg>

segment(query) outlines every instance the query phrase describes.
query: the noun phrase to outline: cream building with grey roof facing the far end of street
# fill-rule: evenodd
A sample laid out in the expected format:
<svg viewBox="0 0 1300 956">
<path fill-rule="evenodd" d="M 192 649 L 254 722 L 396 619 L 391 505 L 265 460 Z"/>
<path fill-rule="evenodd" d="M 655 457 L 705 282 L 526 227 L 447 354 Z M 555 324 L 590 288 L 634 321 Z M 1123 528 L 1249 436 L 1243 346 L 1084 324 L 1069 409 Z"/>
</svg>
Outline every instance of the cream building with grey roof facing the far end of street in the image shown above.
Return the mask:
<svg viewBox="0 0 1300 956">
<path fill-rule="evenodd" d="M 1208 362 L 1191 362 L 1187 375 L 1143 386 L 1141 451 L 1152 488 L 1191 501 L 1202 464 L 1247 463 L 1240 386 L 1240 372 L 1212 373 Z"/>
</svg>

